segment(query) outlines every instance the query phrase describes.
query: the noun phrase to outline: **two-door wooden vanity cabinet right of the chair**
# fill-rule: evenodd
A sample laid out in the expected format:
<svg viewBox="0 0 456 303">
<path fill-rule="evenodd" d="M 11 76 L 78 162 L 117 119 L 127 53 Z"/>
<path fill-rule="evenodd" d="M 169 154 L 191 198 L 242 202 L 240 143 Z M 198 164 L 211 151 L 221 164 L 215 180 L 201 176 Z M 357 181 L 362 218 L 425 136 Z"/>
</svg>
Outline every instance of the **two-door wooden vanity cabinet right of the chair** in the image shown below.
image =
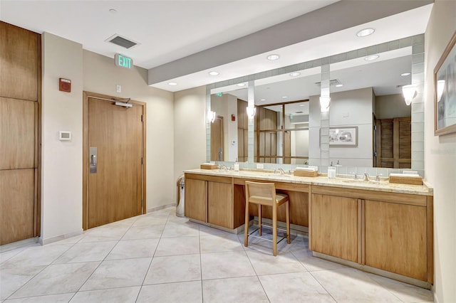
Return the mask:
<svg viewBox="0 0 456 303">
<path fill-rule="evenodd" d="M 309 249 L 433 282 L 432 196 L 313 186 Z"/>
</svg>

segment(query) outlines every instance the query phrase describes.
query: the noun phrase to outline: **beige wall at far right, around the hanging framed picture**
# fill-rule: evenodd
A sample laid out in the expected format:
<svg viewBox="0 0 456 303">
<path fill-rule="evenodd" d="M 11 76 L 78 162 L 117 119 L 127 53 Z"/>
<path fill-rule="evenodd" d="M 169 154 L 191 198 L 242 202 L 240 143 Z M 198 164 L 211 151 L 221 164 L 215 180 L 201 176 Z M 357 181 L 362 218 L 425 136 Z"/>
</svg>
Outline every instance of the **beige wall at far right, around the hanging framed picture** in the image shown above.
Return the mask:
<svg viewBox="0 0 456 303">
<path fill-rule="evenodd" d="M 433 70 L 456 30 L 456 1 L 436 0 L 425 33 L 425 176 L 434 186 L 435 301 L 456 302 L 456 134 L 434 136 Z"/>
</svg>

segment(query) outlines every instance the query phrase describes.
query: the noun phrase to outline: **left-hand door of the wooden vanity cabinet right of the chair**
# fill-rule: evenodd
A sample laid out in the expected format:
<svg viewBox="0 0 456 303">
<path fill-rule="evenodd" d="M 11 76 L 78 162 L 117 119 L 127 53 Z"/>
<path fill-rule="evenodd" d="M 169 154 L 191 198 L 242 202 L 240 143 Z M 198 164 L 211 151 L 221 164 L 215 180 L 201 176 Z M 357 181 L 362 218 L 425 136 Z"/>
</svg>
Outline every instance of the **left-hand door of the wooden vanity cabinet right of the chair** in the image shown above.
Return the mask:
<svg viewBox="0 0 456 303">
<path fill-rule="evenodd" d="M 359 262 L 358 200 L 312 194 L 312 250 Z"/>
</svg>

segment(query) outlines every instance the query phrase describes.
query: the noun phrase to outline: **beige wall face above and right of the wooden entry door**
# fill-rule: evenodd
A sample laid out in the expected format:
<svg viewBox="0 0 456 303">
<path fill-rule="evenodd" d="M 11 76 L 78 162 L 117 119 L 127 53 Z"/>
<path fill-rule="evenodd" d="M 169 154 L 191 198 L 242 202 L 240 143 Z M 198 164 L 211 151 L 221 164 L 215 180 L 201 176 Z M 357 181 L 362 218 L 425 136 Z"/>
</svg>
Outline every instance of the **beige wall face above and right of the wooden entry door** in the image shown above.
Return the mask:
<svg viewBox="0 0 456 303">
<path fill-rule="evenodd" d="M 115 92 L 115 85 L 122 92 Z M 83 51 L 83 90 L 147 103 L 147 209 L 175 203 L 172 92 L 147 86 L 144 68 L 120 68 L 113 58 L 88 50 Z"/>
</svg>

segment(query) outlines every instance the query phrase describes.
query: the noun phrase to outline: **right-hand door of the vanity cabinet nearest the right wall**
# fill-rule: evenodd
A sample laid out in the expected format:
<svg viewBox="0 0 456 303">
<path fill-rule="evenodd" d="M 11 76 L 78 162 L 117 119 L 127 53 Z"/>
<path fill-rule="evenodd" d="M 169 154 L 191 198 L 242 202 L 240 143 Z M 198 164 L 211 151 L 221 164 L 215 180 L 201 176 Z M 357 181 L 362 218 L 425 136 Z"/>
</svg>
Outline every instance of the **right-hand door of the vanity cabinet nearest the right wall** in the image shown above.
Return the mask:
<svg viewBox="0 0 456 303">
<path fill-rule="evenodd" d="M 366 265 L 427 280 L 426 208 L 366 201 Z"/>
</svg>

